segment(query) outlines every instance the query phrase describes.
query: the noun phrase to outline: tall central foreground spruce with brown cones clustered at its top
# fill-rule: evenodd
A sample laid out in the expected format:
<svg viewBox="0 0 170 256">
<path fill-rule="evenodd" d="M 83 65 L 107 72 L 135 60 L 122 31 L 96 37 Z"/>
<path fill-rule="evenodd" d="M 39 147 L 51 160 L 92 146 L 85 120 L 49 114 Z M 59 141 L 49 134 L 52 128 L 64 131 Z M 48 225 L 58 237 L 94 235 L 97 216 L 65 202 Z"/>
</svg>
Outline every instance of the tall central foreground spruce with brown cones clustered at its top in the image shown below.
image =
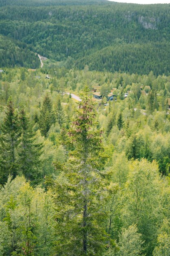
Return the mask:
<svg viewBox="0 0 170 256">
<path fill-rule="evenodd" d="M 74 146 L 54 186 L 57 256 L 102 255 L 109 243 L 106 223 L 106 157 L 101 130 L 95 129 L 94 103 L 85 87 L 68 135 Z"/>
</svg>

